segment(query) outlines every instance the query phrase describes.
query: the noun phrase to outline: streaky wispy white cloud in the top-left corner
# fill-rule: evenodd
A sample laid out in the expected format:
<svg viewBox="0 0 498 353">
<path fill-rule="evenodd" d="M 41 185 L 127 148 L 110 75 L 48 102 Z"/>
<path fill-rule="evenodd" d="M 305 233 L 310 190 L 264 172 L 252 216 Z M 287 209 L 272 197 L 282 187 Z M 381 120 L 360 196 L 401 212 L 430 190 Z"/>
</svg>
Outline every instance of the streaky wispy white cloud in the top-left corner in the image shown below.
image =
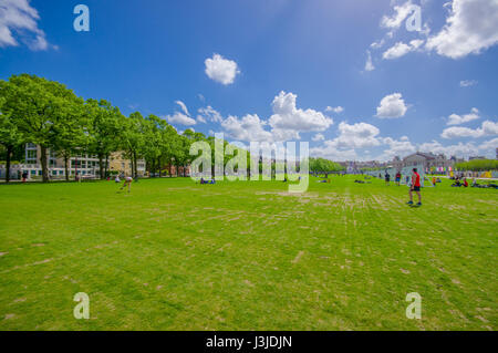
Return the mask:
<svg viewBox="0 0 498 353">
<path fill-rule="evenodd" d="M 46 50 L 45 33 L 38 28 L 40 15 L 28 0 L 2 0 L 0 3 L 0 48 L 17 46 L 19 40 L 31 50 Z"/>
</svg>

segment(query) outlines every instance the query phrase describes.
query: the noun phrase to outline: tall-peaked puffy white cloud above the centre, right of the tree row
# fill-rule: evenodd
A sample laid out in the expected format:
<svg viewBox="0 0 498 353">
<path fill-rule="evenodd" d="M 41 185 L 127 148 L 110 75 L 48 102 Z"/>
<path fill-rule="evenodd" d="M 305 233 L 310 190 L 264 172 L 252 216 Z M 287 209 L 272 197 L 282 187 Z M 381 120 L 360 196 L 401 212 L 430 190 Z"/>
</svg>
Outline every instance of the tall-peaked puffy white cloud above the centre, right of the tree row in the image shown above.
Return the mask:
<svg viewBox="0 0 498 353">
<path fill-rule="evenodd" d="M 300 138 L 300 132 L 323 132 L 333 120 L 314 110 L 301 110 L 295 105 L 297 95 L 280 92 L 272 103 L 273 115 L 269 123 L 277 141 Z"/>
</svg>

